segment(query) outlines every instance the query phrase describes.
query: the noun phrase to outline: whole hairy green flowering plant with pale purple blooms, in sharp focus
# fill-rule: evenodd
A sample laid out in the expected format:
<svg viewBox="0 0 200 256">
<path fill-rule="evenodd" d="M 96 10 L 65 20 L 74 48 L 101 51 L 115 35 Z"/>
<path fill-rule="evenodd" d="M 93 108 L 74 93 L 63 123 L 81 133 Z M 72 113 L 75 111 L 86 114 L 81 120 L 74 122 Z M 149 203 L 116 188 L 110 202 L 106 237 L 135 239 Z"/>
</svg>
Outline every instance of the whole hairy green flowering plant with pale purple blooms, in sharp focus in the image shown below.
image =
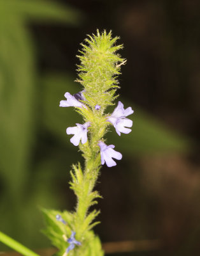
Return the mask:
<svg viewBox="0 0 200 256">
<path fill-rule="evenodd" d="M 85 164 L 73 165 L 72 180 L 69 182 L 75 192 L 77 204 L 74 212 L 43 210 L 47 228 L 45 230 L 52 244 L 59 249 L 57 255 L 69 256 L 101 256 L 103 250 L 99 238 L 94 235 L 92 228 L 99 223 L 95 221 L 99 211 L 90 211 L 101 198 L 94 191 L 99 170 L 102 164 L 115 166 L 116 159 L 122 159 L 122 154 L 115 150 L 115 145 L 106 145 L 104 136 L 111 125 L 117 134 L 131 132 L 132 121 L 127 116 L 133 113 L 132 108 L 124 109 L 118 101 L 117 108 L 112 114 L 106 114 L 106 108 L 113 105 L 118 97 L 117 76 L 125 60 L 117 54 L 122 45 L 116 45 L 118 37 L 111 38 L 111 32 L 99 33 L 85 39 L 81 44 L 80 65 L 78 65 L 78 83 L 82 90 L 75 95 L 66 92 L 65 100 L 60 107 L 73 107 L 82 115 L 83 123 L 68 127 L 67 134 L 72 134 L 70 141 L 79 147 Z M 115 159 L 115 160 L 114 160 Z"/>
</svg>

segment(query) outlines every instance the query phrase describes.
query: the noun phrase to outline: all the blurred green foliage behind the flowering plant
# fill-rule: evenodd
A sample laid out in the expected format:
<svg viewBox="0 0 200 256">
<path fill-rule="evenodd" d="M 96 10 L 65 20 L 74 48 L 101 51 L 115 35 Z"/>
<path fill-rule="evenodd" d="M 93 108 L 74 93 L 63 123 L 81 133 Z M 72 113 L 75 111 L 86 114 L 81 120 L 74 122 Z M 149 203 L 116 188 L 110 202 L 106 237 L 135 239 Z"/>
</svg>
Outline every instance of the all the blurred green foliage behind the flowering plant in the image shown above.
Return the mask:
<svg viewBox="0 0 200 256">
<path fill-rule="evenodd" d="M 55 180 L 61 175 L 59 170 L 69 170 L 77 159 L 65 130 L 74 125 L 75 120 L 81 122 L 71 109 L 59 108 L 59 100 L 64 99 L 65 92 L 81 90 L 73 82 L 75 77 L 66 74 L 38 76 L 27 21 L 73 25 L 78 24 L 80 17 L 80 13 L 55 2 L 0 1 L 0 227 L 27 246 L 47 243 L 39 233 L 41 216 L 37 206 L 61 207 L 62 198 L 59 198 Z M 123 102 L 125 106 L 131 105 L 131 102 Z M 133 131 L 128 137 L 120 140 L 115 132 L 108 134 L 108 141 L 114 140 L 117 150 L 132 156 L 189 148 L 190 143 L 185 138 L 168 131 L 138 107 L 134 110 Z M 50 148 L 48 143 L 42 145 L 39 149 L 48 151 L 36 162 L 39 131 L 55 143 Z"/>
</svg>

